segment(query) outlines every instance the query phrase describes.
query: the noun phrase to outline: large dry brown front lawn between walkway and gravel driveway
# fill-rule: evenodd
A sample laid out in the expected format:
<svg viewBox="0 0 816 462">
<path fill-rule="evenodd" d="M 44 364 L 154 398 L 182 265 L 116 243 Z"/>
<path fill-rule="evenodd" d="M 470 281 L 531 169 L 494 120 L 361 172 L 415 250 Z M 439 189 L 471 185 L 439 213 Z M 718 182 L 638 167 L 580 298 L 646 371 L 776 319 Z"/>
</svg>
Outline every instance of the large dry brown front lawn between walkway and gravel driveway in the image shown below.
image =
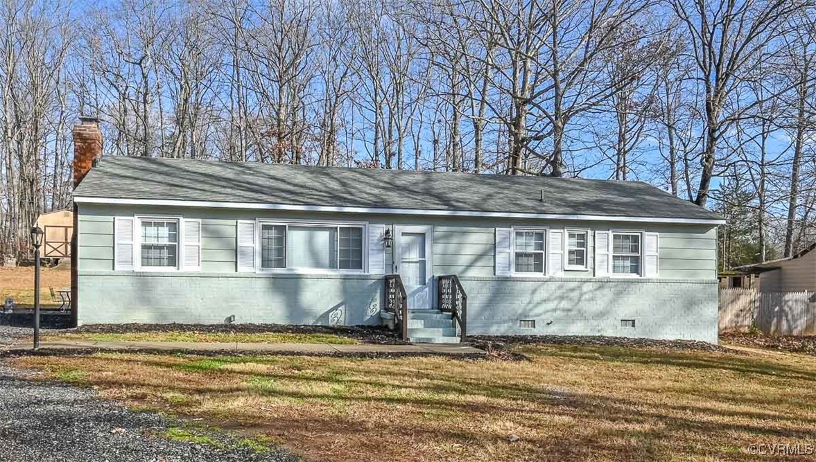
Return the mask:
<svg viewBox="0 0 816 462">
<path fill-rule="evenodd" d="M 521 352 L 530 362 L 148 354 L 15 362 L 97 385 L 108 398 L 264 433 L 312 460 L 756 460 L 749 444 L 814 443 L 813 357 Z"/>
</svg>

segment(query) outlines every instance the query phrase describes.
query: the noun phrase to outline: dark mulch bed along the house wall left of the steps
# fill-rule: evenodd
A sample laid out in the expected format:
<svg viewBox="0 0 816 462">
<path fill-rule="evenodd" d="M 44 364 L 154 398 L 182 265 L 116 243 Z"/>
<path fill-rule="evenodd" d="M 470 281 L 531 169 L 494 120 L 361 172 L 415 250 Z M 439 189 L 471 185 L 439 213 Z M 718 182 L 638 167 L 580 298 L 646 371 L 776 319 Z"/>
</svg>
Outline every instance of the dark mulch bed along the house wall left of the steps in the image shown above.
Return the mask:
<svg viewBox="0 0 816 462">
<path fill-rule="evenodd" d="M 203 333 L 301 333 L 330 334 L 353 338 L 362 343 L 375 345 L 400 345 L 397 331 L 384 326 L 317 326 L 288 324 L 88 324 L 69 332 L 78 333 L 127 333 L 127 332 L 203 332 Z"/>
</svg>

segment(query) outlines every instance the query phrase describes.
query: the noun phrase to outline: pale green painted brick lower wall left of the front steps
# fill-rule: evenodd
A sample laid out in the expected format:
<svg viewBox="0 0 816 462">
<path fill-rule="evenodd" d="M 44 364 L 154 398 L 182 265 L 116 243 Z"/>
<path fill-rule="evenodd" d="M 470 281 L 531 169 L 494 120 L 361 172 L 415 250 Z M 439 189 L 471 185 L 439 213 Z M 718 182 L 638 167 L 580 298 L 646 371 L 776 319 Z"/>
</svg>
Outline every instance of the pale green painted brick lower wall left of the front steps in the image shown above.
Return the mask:
<svg viewBox="0 0 816 462">
<path fill-rule="evenodd" d="M 368 275 L 84 272 L 80 323 L 379 324 Z"/>
</svg>

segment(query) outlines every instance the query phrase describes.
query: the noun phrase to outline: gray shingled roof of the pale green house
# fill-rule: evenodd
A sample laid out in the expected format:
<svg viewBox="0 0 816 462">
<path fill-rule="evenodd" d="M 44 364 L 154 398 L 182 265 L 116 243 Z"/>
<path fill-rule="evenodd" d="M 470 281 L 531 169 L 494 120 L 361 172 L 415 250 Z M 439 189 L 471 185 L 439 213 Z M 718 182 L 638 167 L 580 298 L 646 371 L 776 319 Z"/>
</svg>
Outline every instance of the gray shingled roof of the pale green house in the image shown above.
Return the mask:
<svg viewBox="0 0 816 462">
<path fill-rule="evenodd" d="M 541 191 L 544 191 L 544 201 Z M 77 197 L 720 219 L 641 182 L 104 157 Z"/>
</svg>

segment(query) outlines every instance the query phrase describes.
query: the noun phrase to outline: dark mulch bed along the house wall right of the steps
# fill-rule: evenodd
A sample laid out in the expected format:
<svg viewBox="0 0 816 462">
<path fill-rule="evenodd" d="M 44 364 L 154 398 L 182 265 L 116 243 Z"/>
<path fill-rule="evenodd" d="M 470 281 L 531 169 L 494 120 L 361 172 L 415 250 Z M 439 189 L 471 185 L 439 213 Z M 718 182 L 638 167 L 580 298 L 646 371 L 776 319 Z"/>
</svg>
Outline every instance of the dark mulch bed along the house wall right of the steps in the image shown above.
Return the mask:
<svg viewBox="0 0 816 462">
<path fill-rule="evenodd" d="M 693 340 L 654 340 L 650 338 L 602 337 L 602 336 L 471 336 L 468 345 L 487 351 L 488 354 L 508 354 L 517 345 L 583 345 L 625 346 L 628 348 L 651 348 L 659 350 L 716 351 L 733 353 L 719 345 Z"/>
</svg>

